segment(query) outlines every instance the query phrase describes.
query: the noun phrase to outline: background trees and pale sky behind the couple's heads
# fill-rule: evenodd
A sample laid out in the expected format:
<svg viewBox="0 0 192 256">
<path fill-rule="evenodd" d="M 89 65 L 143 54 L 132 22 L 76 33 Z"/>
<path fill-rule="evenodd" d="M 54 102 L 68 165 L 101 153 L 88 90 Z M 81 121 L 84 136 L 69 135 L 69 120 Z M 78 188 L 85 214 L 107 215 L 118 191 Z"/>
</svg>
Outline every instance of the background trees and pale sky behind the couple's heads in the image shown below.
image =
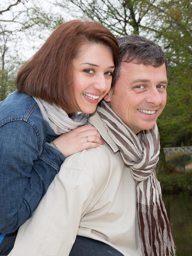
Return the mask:
<svg viewBox="0 0 192 256">
<path fill-rule="evenodd" d="M 37 0 L 9 0 L 12 5 L 7 0 L 2 1 L 0 99 L 13 90 L 13 78 L 26 59 L 18 55 L 21 47 L 26 49 L 28 45 L 27 49 L 37 49 L 53 29 L 66 20 L 93 19 L 108 27 L 116 36 L 140 34 L 161 45 L 168 59 L 169 79 L 167 106 L 158 119 L 161 145 L 192 145 L 190 0 L 42 0 L 40 3 Z M 20 7 L 15 9 L 16 6 Z M 11 18 L 5 21 L 3 14 L 8 12 Z"/>
</svg>

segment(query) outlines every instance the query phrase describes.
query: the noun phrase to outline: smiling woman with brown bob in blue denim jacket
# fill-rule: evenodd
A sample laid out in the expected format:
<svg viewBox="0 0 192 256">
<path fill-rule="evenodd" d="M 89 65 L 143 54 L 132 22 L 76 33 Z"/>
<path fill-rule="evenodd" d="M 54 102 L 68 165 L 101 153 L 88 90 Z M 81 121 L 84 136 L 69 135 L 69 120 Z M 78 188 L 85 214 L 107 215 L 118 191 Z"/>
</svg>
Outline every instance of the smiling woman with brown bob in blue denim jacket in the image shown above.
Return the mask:
<svg viewBox="0 0 192 256">
<path fill-rule="evenodd" d="M 109 92 L 117 61 L 107 28 L 72 20 L 19 70 L 17 90 L 0 103 L 0 255 L 10 252 L 65 158 L 103 144 L 83 125 Z"/>
</svg>

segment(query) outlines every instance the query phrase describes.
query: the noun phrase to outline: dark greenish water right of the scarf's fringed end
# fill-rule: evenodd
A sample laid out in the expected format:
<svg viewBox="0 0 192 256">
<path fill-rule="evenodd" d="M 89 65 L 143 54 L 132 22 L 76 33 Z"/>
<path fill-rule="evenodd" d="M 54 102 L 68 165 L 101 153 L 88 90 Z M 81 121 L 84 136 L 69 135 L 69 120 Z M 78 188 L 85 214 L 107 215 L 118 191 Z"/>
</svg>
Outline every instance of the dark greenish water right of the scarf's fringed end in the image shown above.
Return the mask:
<svg viewBox="0 0 192 256">
<path fill-rule="evenodd" d="M 163 195 L 177 256 L 192 256 L 192 196 Z"/>
</svg>

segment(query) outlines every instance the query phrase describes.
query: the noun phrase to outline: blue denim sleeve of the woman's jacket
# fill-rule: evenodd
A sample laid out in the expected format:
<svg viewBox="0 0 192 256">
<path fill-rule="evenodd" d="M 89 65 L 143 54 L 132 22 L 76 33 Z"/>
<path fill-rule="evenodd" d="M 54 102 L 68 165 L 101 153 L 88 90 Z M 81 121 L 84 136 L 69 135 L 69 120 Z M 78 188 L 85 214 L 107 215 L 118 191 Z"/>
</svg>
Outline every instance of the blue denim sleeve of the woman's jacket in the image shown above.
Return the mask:
<svg viewBox="0 0 192 256">
<path fill-rule="evenodd" d="M 4 124 L 0 137 L 0 232 L 8 234 L 31 217 L 65 156 L 41 144 L 38 130 L 24 121 Z"/>
</svg>

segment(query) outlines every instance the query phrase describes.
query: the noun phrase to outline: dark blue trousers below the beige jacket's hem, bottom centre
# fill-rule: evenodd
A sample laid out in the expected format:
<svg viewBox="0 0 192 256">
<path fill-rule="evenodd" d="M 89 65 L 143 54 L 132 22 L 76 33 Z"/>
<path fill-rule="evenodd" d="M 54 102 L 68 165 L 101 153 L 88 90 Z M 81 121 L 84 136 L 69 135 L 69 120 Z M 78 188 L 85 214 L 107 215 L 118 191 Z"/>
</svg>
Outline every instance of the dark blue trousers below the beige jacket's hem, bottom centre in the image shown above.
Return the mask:
<svg viewBox="0 0 192 256">
<path fill-rule="evenodd" d="M 123 254 L 100 241 L 77 236 L 69 256 L 123 256 Z"/>
</svg>

